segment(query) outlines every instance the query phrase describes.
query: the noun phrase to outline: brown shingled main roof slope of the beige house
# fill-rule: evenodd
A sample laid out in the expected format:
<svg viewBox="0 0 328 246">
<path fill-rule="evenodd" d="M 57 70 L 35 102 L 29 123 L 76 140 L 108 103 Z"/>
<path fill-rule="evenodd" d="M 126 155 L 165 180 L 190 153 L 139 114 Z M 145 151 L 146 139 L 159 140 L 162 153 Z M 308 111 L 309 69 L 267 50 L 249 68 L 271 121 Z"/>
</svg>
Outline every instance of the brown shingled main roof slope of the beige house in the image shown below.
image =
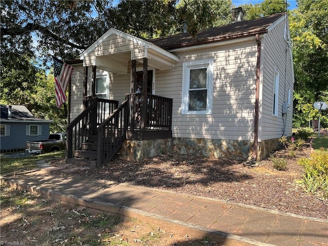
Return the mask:
<svg viewBox="0 0 328 246">
<path fill-rule="evenodd" d="M 268 33 L 270 26 L 283 20 L 285 13 L 274 14 L 268 17 L 244 20 L 242 22 L 219 26 L 199 31 L 197 37 L 189 33 L 151 39 L 150 42 L 164 49 L 177 49 L 195 45 L 220 42 L 227 39 L 247 37 L 256 34 Z M 281 18 L 281 20 L 280 20 Z"/>
</svg>

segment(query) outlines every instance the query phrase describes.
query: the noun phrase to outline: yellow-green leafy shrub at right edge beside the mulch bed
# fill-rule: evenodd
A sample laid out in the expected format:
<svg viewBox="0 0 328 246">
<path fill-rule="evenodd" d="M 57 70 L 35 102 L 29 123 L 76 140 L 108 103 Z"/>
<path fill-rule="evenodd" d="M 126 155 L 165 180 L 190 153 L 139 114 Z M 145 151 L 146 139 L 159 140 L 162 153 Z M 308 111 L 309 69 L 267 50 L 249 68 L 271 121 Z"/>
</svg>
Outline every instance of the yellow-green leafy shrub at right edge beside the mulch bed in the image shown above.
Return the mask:
<svg viewBox="0 0 328 246">
<path fill-rule="evenodd" d="M 322 199 L 328 198 L 328 153 L 316 152 L 310 158 L 297 161 L 304 168 L 303 178 L 297 180 L 304 190 L 318 195 Z"/>
</svg>

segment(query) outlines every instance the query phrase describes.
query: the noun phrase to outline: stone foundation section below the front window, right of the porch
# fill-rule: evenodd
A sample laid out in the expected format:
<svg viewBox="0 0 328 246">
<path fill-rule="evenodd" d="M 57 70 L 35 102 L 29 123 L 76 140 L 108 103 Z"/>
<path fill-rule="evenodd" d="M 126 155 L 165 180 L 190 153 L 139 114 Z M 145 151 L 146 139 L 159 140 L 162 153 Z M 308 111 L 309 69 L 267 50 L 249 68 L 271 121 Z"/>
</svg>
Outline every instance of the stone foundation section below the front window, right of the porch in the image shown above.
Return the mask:
<svg viewBox="0 0 328 246">
<path fill-rule="evenodd" d="M 245 160 L 253 154 L 253 141 L 173 138 L 172 152 L 211 158 Z"/>
</svg>

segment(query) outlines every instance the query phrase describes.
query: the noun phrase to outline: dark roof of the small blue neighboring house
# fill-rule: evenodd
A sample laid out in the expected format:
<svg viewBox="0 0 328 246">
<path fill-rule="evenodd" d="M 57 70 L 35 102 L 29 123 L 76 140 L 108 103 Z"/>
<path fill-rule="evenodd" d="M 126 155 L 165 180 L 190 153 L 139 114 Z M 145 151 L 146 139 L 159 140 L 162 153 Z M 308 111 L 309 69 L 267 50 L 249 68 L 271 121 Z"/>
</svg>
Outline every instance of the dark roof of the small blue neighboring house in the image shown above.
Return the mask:
<svg viewBox="0 0 328 246">
<path fill-rule="evenodd" d="M 23 105 L 12 105 L 11 106 L 11 117 L 9 117 L 9 105 L 1 105 L 0 106 L 0 117 L 1 121 L 7 120 L 33 120 L 33 121 L 42 121 L 42 122 L 53 122 L 53 120 L 49 119 L 38 119 L 35 118 L 34 115 Z"/>
</svg>

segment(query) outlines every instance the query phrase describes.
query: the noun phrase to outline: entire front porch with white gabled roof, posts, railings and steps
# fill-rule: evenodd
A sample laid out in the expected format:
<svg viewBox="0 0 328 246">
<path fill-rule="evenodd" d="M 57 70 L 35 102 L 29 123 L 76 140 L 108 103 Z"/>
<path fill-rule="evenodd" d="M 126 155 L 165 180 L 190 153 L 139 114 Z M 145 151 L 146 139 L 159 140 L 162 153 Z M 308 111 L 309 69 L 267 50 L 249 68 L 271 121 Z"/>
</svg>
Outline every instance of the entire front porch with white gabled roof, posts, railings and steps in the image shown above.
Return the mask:
<svg viewBox="0 0 328 246">
<path fill-rule="evenodd" d="M 83 112 L 67 128 L 67 159 L 79 158 L 101 167 L 127 140 L 172 138 L 173 99 L 155 94 L 154 73 L 173 69 L 177 56 L 111 28 L 80 59 Z M 100 86 L 116 85 L 111 96 L 105 93 L 106 98 L 99 97 L 99 72 L 108 73 L 108 80 L 101 80 Z"/>
</svg>

